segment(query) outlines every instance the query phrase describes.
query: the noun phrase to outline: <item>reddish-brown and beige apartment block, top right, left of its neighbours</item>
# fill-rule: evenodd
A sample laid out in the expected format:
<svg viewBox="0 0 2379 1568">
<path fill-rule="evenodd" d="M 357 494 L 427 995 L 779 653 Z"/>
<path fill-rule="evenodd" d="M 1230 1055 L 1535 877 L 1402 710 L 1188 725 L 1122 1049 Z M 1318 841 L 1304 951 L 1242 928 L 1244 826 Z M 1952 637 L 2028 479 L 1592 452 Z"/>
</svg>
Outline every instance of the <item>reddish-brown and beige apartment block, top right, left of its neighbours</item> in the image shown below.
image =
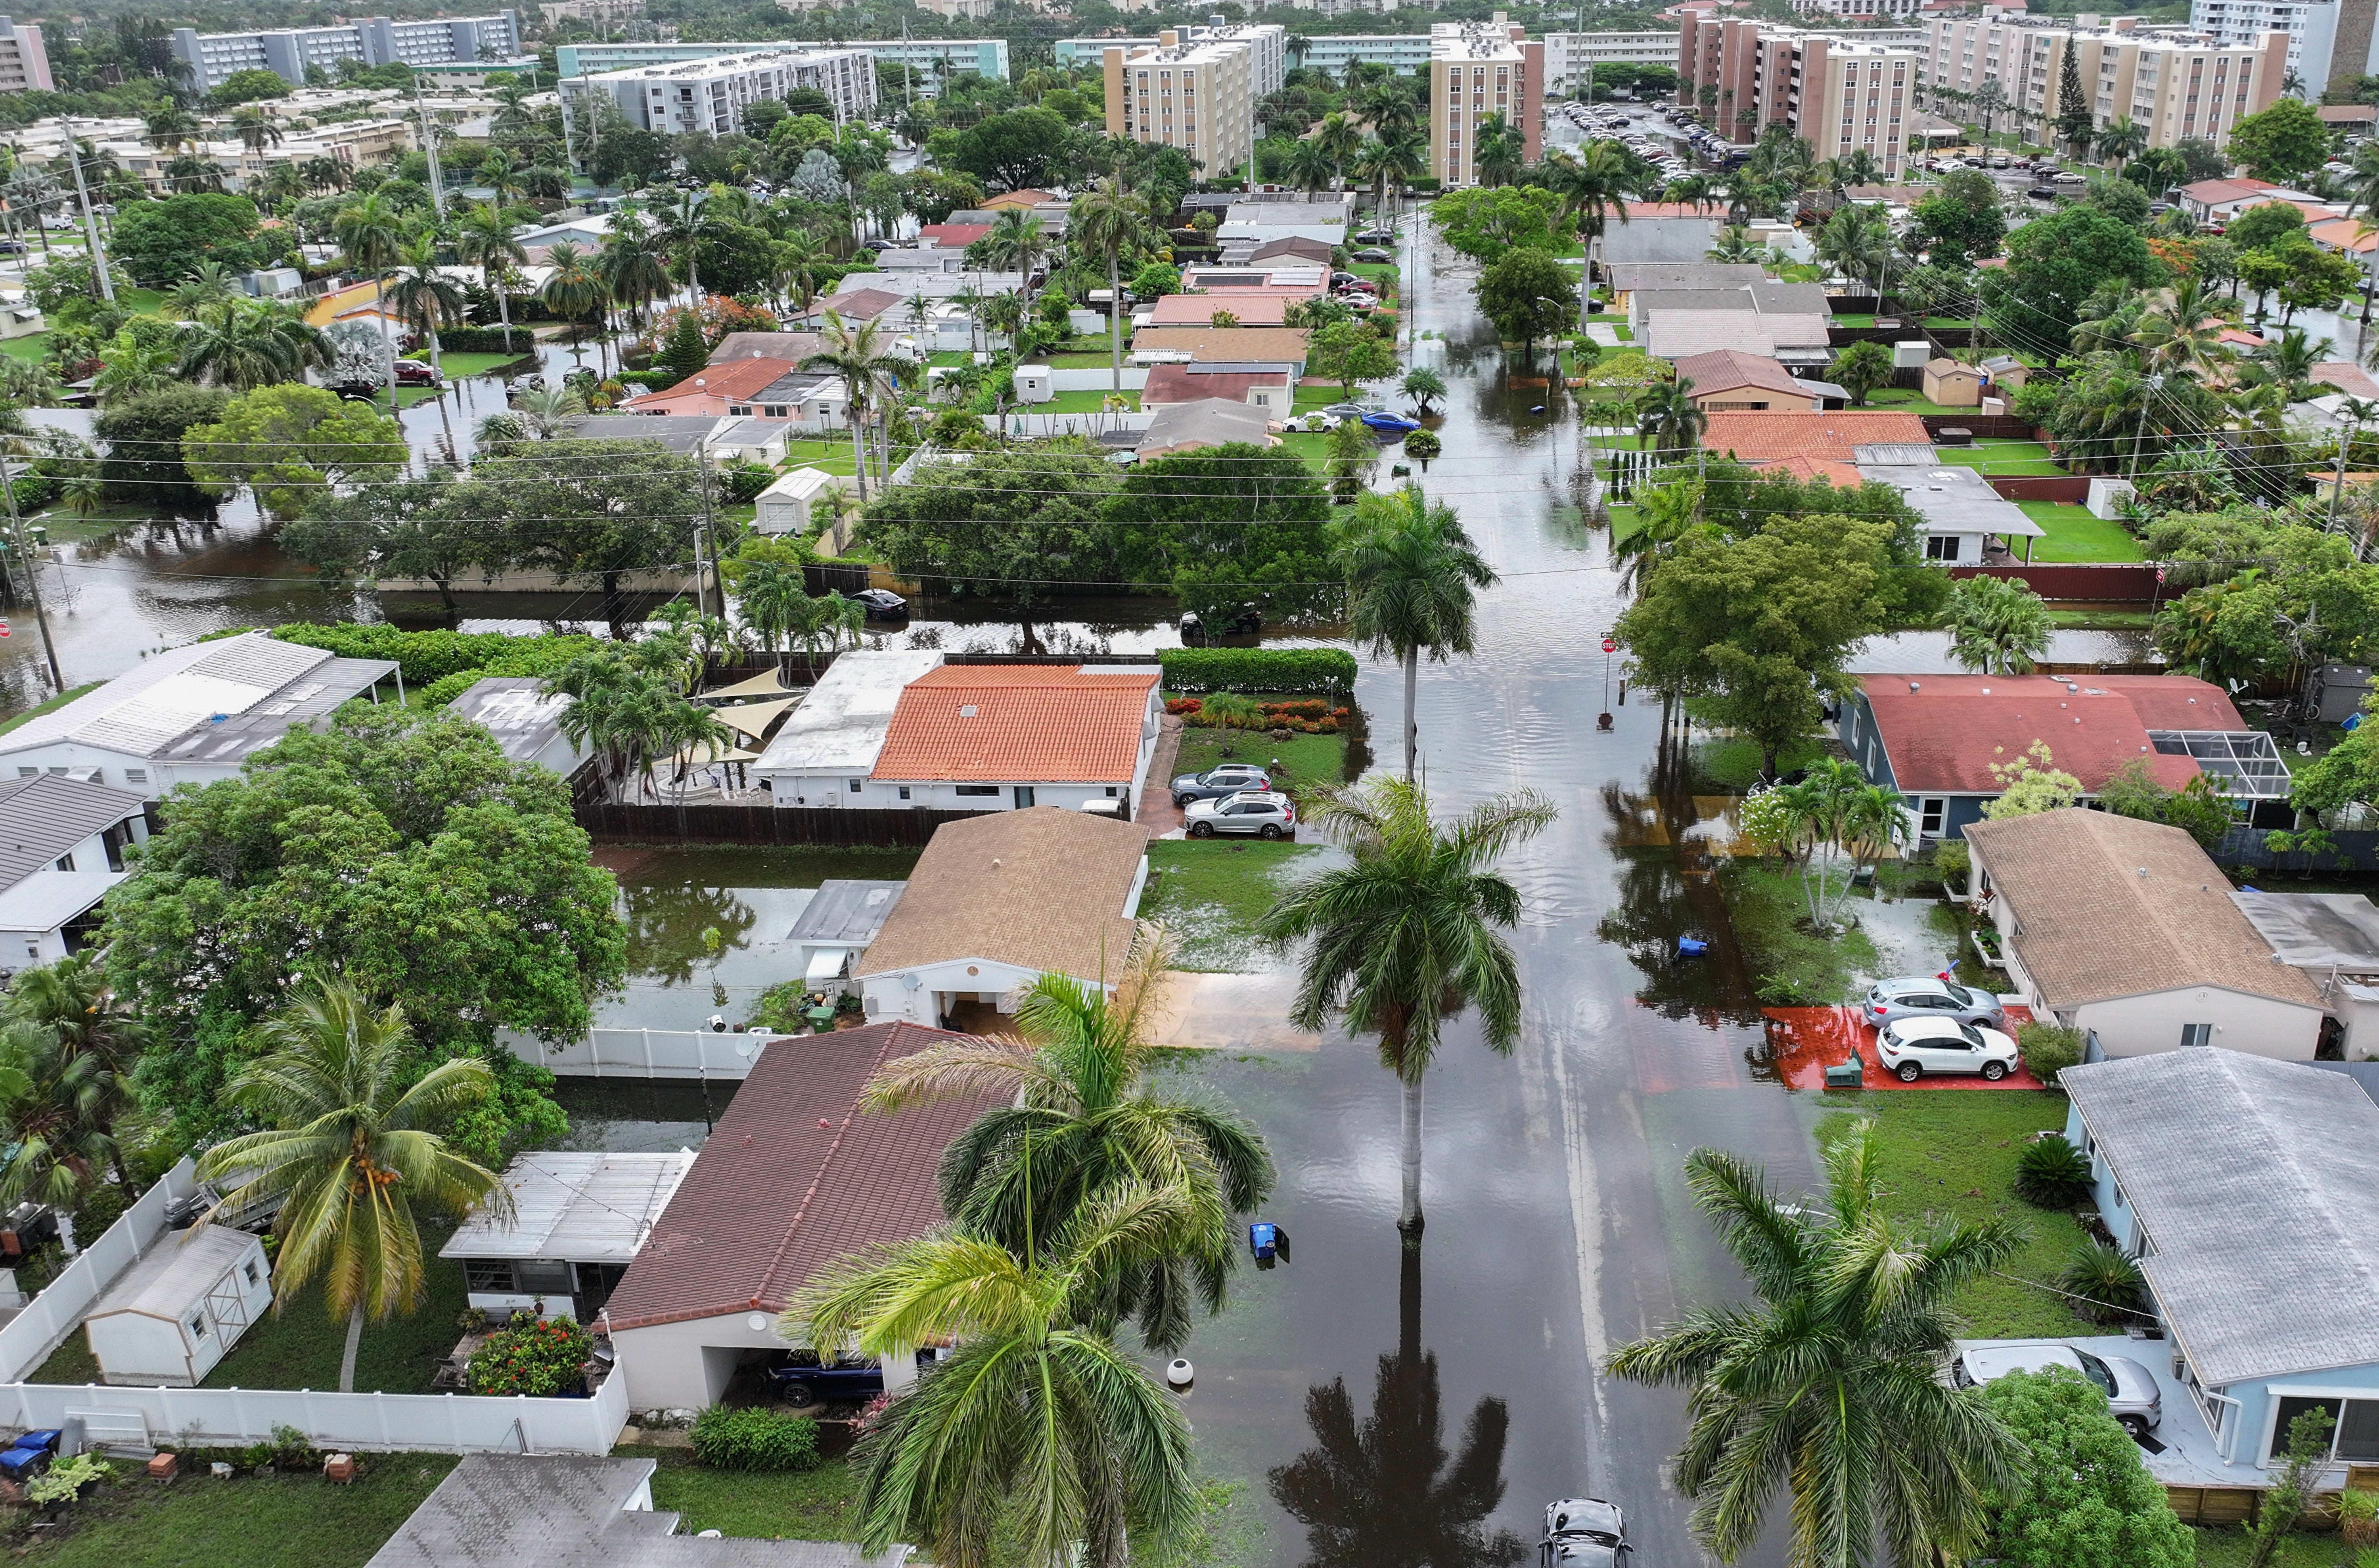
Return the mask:
<svg viewBox="0 0 2379 1568">
<path fill-rule="evenodd" d="M 1818 157 L 1868 152 L 1894 181 L 1915 133 L 1922 33 L 1813 33 L 1691 17 L 1677 40 L 1677 102 L 1734 143 L 1791 126 Z"/>
</svg>

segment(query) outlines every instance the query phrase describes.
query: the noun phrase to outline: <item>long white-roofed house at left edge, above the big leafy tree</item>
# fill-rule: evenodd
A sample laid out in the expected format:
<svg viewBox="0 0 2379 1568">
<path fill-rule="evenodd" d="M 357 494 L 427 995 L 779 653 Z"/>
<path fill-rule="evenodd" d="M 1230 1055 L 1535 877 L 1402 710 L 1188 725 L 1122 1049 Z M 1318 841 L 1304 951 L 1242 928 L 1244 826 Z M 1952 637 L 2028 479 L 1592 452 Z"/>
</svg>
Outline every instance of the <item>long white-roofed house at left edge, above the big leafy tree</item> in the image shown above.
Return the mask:
<svg viewBox="0 0 2379 1568">
<path fill-rule="evenodd" d="M 0 735 L 0 778 L 67 773 L 162 799 L 178 783 L 236 776 L 250 754 L 390 676 L 390 659 L 335 659 L 262 631 L 169 647 Z"/>
</svg>

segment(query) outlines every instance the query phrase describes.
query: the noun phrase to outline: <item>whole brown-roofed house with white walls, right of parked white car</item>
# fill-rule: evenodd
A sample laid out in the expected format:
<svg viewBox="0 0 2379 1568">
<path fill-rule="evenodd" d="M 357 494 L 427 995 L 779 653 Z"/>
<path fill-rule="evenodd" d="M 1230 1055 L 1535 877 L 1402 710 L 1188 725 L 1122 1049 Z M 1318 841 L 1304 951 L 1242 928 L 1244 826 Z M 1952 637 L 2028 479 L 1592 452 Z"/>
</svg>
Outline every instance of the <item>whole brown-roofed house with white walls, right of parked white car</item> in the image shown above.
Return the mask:
<svg viewBox="0 0 2379 1568">
<path fill-rule="evenodd" d="M 2312 1061 L 2322 997 L 2229 899 L 2189 833 L 2067 807 L 1967 823 L 2008 987 L 2108 1056 L 2222 1045 Z"/>
</svg>

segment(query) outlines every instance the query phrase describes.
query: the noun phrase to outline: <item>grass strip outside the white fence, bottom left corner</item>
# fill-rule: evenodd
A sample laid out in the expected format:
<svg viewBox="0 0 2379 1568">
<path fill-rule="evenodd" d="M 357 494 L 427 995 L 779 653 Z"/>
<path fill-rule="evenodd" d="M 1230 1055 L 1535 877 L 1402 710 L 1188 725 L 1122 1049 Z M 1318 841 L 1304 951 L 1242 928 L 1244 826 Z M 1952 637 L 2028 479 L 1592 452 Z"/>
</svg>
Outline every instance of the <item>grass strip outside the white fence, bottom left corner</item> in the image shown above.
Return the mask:
<svg viewBox="0 0 2379 1568">
<path fill-rule="evenodd" d="M 12 1556 L 48 1568 L 362 1568 L 421 1506 L 452 1454 L 357 1454 L 357 1478 L 183 1475 L 162 1487 L 133 1461 L 74 1506 L 64 1532 L 12 1528 Z"/>
</svg>

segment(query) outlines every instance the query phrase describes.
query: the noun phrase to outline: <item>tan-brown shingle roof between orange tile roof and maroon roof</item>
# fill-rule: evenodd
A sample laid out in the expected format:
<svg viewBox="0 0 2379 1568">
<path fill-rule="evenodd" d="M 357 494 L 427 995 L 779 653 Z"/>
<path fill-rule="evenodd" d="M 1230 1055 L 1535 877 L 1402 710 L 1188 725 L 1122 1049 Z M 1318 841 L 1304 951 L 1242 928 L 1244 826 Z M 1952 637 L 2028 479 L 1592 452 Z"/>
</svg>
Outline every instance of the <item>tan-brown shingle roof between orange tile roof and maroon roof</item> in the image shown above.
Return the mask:
<svg viewBox="0 0 2379 1568">
<path fill-rule="evenodd" d="M 852 973 L 992 959 L 1116 978 L 1132 949 L 1123 899 L 1147 852 L 1147 828 L 1056 807 L 942 823 Z"/>
</svg>

